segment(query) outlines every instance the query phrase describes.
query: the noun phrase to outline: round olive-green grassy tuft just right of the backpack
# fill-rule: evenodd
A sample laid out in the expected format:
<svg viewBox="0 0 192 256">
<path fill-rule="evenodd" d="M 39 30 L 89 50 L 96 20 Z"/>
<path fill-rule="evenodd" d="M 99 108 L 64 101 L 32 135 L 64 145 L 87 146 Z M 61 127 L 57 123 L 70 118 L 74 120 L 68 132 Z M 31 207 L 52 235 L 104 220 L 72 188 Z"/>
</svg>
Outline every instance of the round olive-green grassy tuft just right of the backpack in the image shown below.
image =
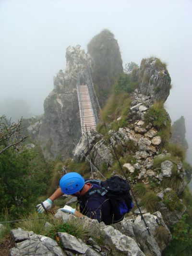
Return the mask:
<svg viewBox="0 0 192 256">
<path fill-rule="evenodd" d="M 147 192 L 142 200 L 141 205 L 145 207 L 149 212 L 153 213 L 158 210 L 158 202 L 160 198 L 153 191 Z"/>
</svg>

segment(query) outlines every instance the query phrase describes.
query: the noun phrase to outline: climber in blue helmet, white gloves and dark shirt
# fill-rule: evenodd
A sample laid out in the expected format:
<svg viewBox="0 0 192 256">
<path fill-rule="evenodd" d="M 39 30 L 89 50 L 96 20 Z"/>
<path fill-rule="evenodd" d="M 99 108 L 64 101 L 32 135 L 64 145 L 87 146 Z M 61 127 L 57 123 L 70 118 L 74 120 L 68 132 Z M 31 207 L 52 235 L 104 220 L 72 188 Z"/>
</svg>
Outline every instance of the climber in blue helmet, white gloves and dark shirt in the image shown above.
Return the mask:
<svg viewBox="0 0 192 256">
<path fill-rule="evenodd" d="M 63 194 L 77 196 L 80 200 L 80 212 L 76 209 L 65 205 L 59 210 L 71 213 L 76 217 L 83 217 L 84 215 L 97 219 L 99 222 L 103 221 L 106 225 L 111 224 L 113 221 L 111 214 L 111 206 L 106 195 L 101 196 L 94 194 L 87 197 L 87 192 L 91 189 L 98 189 L 97 184 L 84 183 L 84 178 L 77 172 L 69 172 L 60 179 L 60 187 L 42 204 L 37 205 L 37 211 L 42 213 L 45 209 L 49 210 L 55 199 Z"/>
</svg>

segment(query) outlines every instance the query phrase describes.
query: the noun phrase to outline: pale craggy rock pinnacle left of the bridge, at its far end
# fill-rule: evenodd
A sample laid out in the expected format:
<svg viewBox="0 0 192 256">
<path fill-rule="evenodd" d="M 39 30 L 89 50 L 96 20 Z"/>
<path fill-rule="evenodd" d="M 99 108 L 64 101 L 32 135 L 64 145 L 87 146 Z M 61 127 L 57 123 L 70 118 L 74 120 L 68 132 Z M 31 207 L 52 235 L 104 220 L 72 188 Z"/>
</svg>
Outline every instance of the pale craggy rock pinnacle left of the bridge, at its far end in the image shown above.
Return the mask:
<svg viewBox="0 0 192 256">
<path fill-rule="evenodd" d="M 81 137 L 81 125 L 77 98 L 77 68 L 80 83 L 87 84 L 87 63 L 92 68 L 93 60 L 80 46 L 66 50 L 65 72 L 59 71 L 54 77 L 54 89 L 44 102 L 41 122 L 28 127 L 42 148 L 45 158 L 55 159 L 71 156 L 74 145 Z M 78 64 L 78 66 L 77 66 Z"/>
</svg>

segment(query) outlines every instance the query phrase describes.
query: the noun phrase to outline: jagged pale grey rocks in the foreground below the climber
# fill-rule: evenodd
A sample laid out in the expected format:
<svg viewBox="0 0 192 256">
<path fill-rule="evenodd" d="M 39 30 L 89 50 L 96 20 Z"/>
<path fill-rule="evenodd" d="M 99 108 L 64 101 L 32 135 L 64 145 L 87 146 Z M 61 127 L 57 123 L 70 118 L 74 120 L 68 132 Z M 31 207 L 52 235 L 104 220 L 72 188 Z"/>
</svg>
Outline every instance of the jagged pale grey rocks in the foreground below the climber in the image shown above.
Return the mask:
<svg viewBox="0 0 192 256">
<path fill-rule="evenodd" d="M 111 253 L 112 255 L 117 253 L 118 255 L 144 256 L 151 252 L 153 252 L 153 255 L 160 256 L 172 239 L 160 212 L 153 215 L 150 213 L 144 214 L 151 236 L 146 231 L 140 216 L 140 220 L 137 220 L 137 218 L 134 221 L 125 218 L 112 226 L 106 226 L 103 222 L 98 223 L 96 219 L 87 217 L 78 219 L 68 213 L 61 212 L 61 215 L 58 213 L 54 216 L 55 219 L 62 219 L 63 223 L 69 222 L 69 225 L 73 219 L 78 226 L 82 225 L 85 230 L 89 230 L 90 234 L 94 234 L 95 237 L 102 236 L 105 245 L 98 244 L 99 242 L 96 243 L 92 237 L 84 241 L 67 232 L 58 232 L 60 244 L 62 244 L 61 249 L 57 242 L 49 237 L 34 232 L 26 232 L 22 229 L 14 229 L 12 230 L 12 238 L 15 241 L 15 247 L 10 250 L 10 256 L 108 256 Z M 163 236 L 158 236 L 159 229 L 164 232 Z"/>
</svg>

